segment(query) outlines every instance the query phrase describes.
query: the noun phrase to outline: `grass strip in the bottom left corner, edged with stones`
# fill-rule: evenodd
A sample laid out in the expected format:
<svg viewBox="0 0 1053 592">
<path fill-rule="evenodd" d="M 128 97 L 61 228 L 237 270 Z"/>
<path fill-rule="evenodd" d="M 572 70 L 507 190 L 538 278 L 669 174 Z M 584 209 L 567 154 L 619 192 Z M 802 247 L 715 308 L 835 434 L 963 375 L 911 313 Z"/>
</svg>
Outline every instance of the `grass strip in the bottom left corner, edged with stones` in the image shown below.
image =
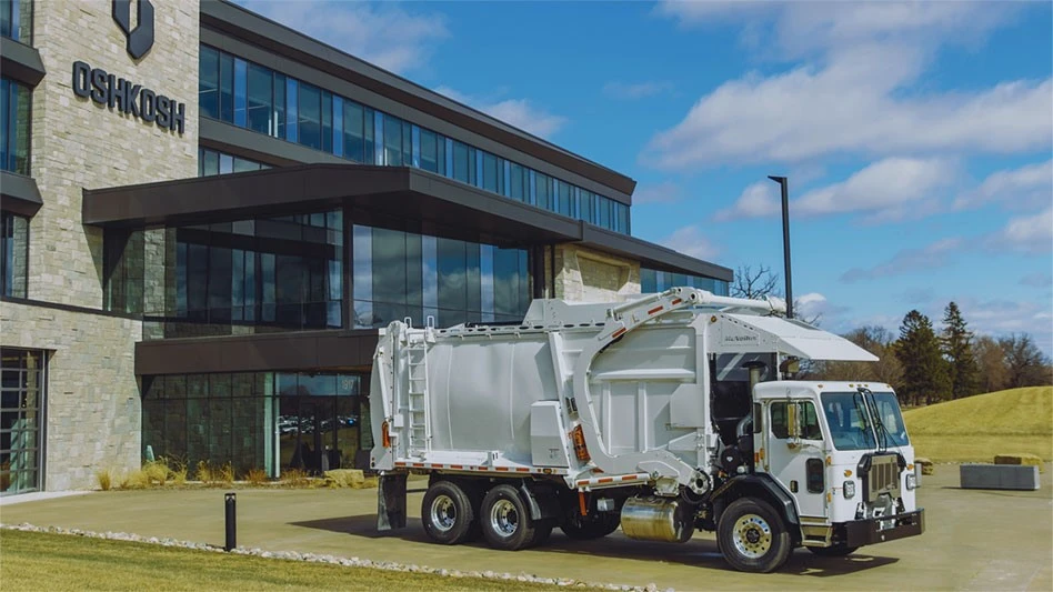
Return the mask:
<svg viewBox="0 0 1053 592">
<path fill-rule="evenodd" d="M 495 571 L 500 566 L 497 566 Z M 63 590 L 505 590 L 556 586 L 228 555 L 68 534 L 0 531 L 0 586 Z"/>
</svg>

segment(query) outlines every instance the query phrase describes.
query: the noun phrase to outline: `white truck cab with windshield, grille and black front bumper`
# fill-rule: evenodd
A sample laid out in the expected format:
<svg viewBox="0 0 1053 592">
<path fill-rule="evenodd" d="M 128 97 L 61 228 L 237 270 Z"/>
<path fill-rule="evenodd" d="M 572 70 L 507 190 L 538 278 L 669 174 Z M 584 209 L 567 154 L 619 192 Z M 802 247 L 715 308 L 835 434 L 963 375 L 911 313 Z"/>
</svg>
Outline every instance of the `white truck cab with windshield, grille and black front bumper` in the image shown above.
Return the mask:
<svg viewBox="0 0 1053 592">
<path fill-rule="evenodd" d="M 753 470 L 792 496 L 801 544 L 840 555 L 921 533 L 914 449 L 891 387 L 775 381 L 753 392 Z"/>
</svg>

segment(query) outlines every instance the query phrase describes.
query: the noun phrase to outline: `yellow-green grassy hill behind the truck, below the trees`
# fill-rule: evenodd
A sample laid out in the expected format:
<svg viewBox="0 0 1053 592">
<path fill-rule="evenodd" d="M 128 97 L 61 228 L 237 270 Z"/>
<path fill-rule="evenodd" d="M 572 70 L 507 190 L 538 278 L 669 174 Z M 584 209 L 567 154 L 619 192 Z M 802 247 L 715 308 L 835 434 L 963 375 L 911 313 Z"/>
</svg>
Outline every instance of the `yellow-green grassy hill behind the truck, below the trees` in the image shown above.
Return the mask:
<svg viewBox="0 0 1053 592">
<path fill-rule="evenodd" d="M 1053 460 L 1053 387 L 977 394 L 903 413 L 915 453 L 936 462 L 991 462 L 1026 452 Z"/>
</svg>

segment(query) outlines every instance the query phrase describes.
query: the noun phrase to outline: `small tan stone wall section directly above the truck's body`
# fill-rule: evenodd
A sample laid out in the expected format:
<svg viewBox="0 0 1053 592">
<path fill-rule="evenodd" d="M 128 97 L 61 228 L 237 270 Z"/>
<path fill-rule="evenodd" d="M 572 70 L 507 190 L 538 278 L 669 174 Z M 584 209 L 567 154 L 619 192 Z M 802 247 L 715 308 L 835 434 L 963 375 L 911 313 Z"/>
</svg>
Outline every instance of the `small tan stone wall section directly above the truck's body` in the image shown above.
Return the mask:
<svg viewBox="0 0 1053 592">
<path fill-rule="evenodd" d="M 559 299 L 616 302 L 640 293 L 640 262 L 573 244 L 556 245 L 554 287 L 554 297 Z"/>
</svg>

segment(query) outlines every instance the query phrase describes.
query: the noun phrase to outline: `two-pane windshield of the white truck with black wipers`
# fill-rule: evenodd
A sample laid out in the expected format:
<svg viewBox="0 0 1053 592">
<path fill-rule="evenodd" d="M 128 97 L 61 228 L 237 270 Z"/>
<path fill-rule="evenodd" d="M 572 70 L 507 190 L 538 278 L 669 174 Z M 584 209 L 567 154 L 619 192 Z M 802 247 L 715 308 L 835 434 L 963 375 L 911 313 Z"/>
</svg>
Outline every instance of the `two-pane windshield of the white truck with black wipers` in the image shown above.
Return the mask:
<svg viewBox="0 0 1053 592">
<path fill-rule="evenodd" d="M 884 431 L 879 431 L 883 442 L 890 446 L 904 446 L 910 442 L 900 404 L 891 392 L 876 392 L 879 421 Z M 868 407 L 858 392 L 826 392 L 822 394 L 823 412 L 830 425 L 830 434 L 838 450 L 870 450 L 877 448 Z M 879 428 L 880 430 L 880 428 Z"/>
</svg>

